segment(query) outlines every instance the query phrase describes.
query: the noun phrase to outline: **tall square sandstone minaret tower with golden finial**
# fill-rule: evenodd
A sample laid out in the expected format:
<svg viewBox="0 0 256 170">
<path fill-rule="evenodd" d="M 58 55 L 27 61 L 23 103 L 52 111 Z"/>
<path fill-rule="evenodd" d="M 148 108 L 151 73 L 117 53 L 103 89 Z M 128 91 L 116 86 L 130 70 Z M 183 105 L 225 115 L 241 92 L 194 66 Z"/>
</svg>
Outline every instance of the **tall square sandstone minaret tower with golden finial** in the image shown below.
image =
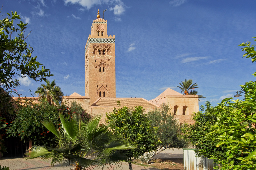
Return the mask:
<svg viewBox="0 0 256 170">
<path fill-rule="evenodd" d="M 107 20 L 93 20 L 85 47 L 85 95 L 90 105 L 101 97 L 115 98 L 115 36 L 108 36 Z"/>
</svg>

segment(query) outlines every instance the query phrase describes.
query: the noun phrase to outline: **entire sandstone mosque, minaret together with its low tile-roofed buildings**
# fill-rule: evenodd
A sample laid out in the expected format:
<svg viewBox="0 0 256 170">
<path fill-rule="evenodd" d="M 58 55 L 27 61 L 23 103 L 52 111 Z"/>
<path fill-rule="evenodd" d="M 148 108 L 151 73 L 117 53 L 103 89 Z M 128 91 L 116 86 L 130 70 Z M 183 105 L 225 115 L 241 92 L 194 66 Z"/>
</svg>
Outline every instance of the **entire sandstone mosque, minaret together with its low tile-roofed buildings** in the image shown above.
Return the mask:
<svg viewBox="0 0 256 170">
<path fill-rule="evenodd" d="M 134 108 L 142 106 L 148 112 L 150 109 L 161 108 L 161 104 L 169 104 L 171 114 L 174 114 L 180 124 L 193 123 L 191 115 L 199 111 L 198 95 L 183 95 L 172 89 L 165 90 L 150 101 L 143 98 L 116 98 L 115 84 L 115 35 L 108 36 L 108 22 L 100 18 L 93 20 L 91 35 L 85 46 L 85 96 L 73 93 L 64 97 L 70 106 L 77 100 L 91 116 L 112 112 L 121 101 L 121 107 Z"/>
</svg>

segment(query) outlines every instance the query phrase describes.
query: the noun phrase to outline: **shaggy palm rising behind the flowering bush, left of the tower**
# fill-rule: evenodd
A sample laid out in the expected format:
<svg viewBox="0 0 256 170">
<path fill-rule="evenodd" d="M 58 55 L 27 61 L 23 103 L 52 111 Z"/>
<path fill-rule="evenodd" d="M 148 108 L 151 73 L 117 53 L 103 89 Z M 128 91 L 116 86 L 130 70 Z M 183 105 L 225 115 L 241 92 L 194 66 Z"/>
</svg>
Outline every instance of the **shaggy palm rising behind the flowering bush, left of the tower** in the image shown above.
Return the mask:
<svg viewBox="0 0 256 170">
<path fill-rule="evenodd" d="M 37 88 L 35 94 L 43 101 L 48 101 L 50 105 L 62 102 L 62 96 L 64 96 L 61 88 L 56 86 L 55 79 L 50 83 L 49 80 L 45 84 L 41 84 L 41 87 Z"/>
</svg>

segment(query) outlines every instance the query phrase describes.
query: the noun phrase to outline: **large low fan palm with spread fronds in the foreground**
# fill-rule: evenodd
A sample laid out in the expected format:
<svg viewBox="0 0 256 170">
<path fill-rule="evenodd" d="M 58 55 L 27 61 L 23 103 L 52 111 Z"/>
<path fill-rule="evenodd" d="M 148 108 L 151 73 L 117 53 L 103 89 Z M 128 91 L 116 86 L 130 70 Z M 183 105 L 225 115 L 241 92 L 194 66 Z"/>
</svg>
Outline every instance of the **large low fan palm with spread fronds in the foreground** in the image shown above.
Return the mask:
<svg viewBox="0 0 256 170">
<path fill-rule="evenodd" d="M 83 121 L 77 114 L 73 114 L 72 117 L 61 113 L 59 115 L 61 128 L 47 119 L 41 121 L 56 135 L 57 147 L 33 146 L 25 155 L 27 159 L 51 158 L 51 166 L 58 162 L 65 166 L 72 165 L 75 167 L 74 170 L 98 165 L 113 167 L 120 166 L 120 161 L 128 162 L 129 155 L 125 155 L 123 150 L 136 148 L 133 141 L 114 133 L 110 128 L 114 122 L 109 125 L 99 125 L 101 116 Z"/>
</svg>

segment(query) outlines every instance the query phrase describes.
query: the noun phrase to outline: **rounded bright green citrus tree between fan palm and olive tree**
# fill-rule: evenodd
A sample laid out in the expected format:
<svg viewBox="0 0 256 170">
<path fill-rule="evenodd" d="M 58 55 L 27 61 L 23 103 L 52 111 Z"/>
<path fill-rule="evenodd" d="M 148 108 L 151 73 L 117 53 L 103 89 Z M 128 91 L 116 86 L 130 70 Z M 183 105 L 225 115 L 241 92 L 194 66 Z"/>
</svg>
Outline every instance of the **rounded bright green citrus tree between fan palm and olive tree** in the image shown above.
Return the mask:
<svg viewBox="0 0 256 170">
<path fill-rule="evenodd" d="M 125 138 L 131 138 L 137 143 L 137 148 L 127 152 L 135 158 L 145 152 L 156 150 L 159 143 L 156 136 L 157 128 L 151 127 L 151 122 L 144 112 L 145 109 L 142 107 L 135 107 L 132 113 L 127 107 L 123 107 L 114 108 L 113 113 L 106 114 L 107 124 L 114 122 L 110 127 L 115 133 L 124 135 Z"/>
</svg>

